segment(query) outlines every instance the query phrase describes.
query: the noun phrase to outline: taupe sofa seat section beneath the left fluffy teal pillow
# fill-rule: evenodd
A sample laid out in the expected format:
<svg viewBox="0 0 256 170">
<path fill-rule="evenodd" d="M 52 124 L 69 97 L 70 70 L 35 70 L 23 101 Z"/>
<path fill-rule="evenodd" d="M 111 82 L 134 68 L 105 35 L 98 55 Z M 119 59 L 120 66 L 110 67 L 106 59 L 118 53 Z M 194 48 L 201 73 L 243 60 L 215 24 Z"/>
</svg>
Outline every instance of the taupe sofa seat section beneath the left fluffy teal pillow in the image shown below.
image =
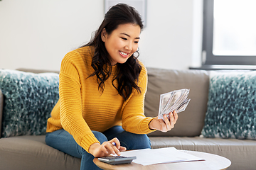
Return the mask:
<svg viewBox="0 0 256 170">
<path fill-rule="evenodd" d="M 49 147 L 46 135 L 23 135 L 0 139 L 0 169 L 80 169 L 81 159 Z"/>
</svg>

